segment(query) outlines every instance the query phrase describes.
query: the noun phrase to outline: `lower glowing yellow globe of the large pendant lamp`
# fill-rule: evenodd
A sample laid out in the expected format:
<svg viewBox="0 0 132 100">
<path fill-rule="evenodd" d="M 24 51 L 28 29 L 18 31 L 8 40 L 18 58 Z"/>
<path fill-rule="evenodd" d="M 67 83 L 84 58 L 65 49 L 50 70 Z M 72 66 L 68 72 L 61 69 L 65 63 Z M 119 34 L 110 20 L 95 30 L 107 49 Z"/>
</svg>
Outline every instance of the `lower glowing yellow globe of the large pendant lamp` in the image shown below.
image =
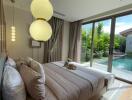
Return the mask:
<svg viewBox="0 0 132 100">
<path fill-rule="evenodd" d="M 48 22 L 36 20 L 30 26 L 30 35 L 36 41 L 47 41 L 52 35 L 52 29 Z"/>
</svg>

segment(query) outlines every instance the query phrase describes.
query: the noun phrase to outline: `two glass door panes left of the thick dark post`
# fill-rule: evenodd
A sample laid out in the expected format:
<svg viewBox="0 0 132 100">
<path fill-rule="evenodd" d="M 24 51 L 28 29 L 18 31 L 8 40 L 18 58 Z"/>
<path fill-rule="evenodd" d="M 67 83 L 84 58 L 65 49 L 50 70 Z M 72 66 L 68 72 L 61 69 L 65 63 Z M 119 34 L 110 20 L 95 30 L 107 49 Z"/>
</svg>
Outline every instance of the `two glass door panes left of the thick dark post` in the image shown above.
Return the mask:
<svg viewBox="0 0 132 100">
<path fill-rule="evenodd" d="M 82 25 L 81 63 L 107 71 L 111 19 Z"/>
</svg>

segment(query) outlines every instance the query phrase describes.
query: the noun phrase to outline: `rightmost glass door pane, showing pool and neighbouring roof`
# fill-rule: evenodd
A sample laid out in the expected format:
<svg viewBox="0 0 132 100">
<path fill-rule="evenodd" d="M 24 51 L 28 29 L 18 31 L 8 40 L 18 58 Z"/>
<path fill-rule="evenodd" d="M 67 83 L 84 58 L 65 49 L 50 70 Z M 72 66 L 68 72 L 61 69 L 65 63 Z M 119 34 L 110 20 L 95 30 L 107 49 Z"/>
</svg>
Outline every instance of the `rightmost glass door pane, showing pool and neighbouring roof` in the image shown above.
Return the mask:
<svg viewBox="0 0 132 100">
<path fill-rule="evenodd" d="M 132 81 L 132 14 L 116 18 L 112 73 Z"/>
</svg>

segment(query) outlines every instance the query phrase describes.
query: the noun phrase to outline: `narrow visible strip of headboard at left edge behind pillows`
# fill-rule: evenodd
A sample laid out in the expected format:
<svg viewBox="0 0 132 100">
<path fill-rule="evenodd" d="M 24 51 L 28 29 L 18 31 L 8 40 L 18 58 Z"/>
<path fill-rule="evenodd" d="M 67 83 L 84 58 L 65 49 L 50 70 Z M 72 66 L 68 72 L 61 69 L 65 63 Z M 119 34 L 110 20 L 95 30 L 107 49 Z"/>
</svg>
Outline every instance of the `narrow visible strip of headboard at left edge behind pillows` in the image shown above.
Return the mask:
<svg viewBox="0 0 132 100">
<path fill-rule="evenodd" d="M 2 100 L 2 78 L 3 78 L 3 71 L 4 71 L 4 64 L 6 61 L 6 54 L 2 53 L 0 55 L 0 100 Z"/>
</svg>

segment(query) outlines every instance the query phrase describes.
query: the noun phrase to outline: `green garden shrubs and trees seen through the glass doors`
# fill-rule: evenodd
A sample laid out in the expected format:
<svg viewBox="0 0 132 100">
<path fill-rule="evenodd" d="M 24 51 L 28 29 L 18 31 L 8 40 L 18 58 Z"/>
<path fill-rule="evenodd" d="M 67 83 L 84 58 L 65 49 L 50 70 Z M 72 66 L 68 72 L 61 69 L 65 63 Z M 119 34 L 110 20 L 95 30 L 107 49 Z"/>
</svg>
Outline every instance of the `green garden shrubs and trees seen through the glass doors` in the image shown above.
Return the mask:
<svg viewBox="0 0 132 100">
<path fill-rule="evenodd" d="M 94 30 L 94 48 L 93 58 L 101 59 L 102 57 L 108 57 L 109 45 L 110 45 L 110 33 L 103 31 L 103 23 L 98 23 Z M 82 50 L 81 61 L 88 62 L 91 58 L 91 39 L 92 29 L 82 29 Z M 115 34 L 114 37 L 114 52 L 125 53 L 126 39 L 120 34 Z"/>
</svg>

